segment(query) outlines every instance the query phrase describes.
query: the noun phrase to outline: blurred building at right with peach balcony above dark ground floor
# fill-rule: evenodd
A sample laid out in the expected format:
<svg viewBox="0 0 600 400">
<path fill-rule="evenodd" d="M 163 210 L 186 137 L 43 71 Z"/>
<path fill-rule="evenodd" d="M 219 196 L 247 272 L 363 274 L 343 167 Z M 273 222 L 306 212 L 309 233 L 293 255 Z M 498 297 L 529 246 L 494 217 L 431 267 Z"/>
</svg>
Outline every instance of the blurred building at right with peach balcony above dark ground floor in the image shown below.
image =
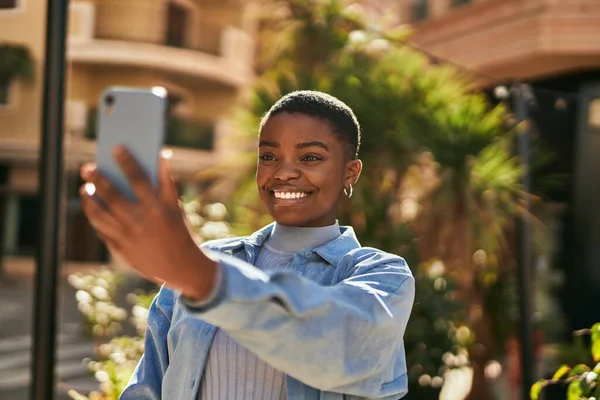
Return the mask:
<svg viewBox="0 0 600 400">
<path fill-rule="evenodd" d="M 387 3 L 433 62 L 464 67 L 490 94 L 502 83 L 531 84 L 531 126 L 556 155 L 544 172 L 570 177 L 545 191 L 566 209 L 556 215 L 555 254 L 567 276 L 564 305 L 572 328 L 589 327 L 600 318 L 592 305 L 600 301 L 600 1 Z"/>
</svg>

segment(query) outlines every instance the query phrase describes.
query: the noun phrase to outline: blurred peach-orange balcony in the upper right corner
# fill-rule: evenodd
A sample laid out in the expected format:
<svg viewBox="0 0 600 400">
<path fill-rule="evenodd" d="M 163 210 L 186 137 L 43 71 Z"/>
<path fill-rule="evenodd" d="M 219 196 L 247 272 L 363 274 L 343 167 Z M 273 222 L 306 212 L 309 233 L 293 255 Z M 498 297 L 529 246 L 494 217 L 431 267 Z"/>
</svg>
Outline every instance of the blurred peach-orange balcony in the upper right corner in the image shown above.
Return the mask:
<svg viewBox="0 0 600 400">
<path fill-rule="evenodd" d="M 482 85 L 493 84 L 483 75 L 538 79 L 598 64 L 598 1 L 486 0 L 442 11 L 415 25 L 411 42 L 480 71 Z"/>
</svg>

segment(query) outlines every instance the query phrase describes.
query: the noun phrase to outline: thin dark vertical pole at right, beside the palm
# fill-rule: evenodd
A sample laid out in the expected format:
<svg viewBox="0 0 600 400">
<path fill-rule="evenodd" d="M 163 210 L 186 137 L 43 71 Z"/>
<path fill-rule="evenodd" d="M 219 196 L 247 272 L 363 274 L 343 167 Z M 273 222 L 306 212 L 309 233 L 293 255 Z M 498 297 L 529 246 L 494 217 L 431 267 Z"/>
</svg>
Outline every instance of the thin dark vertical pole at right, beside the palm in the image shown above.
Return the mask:
<svg viewBox="0 0 600 400">
<path fill-rule="evenodd" d="M 517 150 L 521 162 L 526 170 L 522 178 L 522 185 L 526 193 L 531 192 L 531 175 L 529 162 L 529 108 L 534 102 L 531 87 L 526 84 L 517 84 L 513 87 L 514 107 L 519 121 Z M 529 198 L 523 199 L 523 211 L 527 214 L 530 210 Z M 521 336 L 521 372 L 522 394 L 521 399 L 529 399 L 529 391 L 534 383 L 534 343 L 532 322 L 532 270 L 531 270 L 531 226 L 527 215 L 519 219 L 518 225 L 518 274 L 519 274 L 519 316 Z"/>
</svg>

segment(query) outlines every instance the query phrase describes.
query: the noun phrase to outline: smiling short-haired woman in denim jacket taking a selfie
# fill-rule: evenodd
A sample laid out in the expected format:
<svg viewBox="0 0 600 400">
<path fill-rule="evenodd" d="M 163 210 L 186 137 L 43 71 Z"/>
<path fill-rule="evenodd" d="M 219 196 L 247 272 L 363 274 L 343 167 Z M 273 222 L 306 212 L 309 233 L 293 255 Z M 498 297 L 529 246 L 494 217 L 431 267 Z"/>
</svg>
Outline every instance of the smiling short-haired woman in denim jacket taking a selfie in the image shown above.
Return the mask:
<svg viewBox="0 0 600 400">
<path fill-rule="evenodd" d="M 395 400 L 407 392 L 403 335 L 414 279 L 402 258 L 361 247 L 336 220 L 362 169 L 359 144 L 359 124 L 341 101 L 284 96 L 260 125 L 256 175 L 275 222 L 201 248 L 164 159 L 157 193 L 115 149 L 137 203 L 93 166 L 82 169 L 85 212 L 100 237 L 141 275 L 164 282 L 121 399 Z"/>
</svg>

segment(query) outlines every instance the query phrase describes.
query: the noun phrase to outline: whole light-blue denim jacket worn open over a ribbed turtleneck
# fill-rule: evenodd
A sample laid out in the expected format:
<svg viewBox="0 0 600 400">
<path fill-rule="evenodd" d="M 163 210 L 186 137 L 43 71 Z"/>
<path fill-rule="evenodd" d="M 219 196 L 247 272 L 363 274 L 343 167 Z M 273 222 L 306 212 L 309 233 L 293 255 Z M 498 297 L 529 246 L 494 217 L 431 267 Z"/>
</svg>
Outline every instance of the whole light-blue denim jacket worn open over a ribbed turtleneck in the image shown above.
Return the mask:
<svg viewBox="0 0 600 400">
<path fill-rule="evenodd" d="M 337 239 L 299 251 L 289 268 L 261 271 L 252 264 L 272 227 L 203 245 L 221 268 L 210 305 L 160 290 L 122 400 L 196 400 L 217 329 L 285 373 L 288 400 L 406 394 L 403 336 L 415 287 L 404 259 L 361 247 L 342 227 Z"/>
</svg>

